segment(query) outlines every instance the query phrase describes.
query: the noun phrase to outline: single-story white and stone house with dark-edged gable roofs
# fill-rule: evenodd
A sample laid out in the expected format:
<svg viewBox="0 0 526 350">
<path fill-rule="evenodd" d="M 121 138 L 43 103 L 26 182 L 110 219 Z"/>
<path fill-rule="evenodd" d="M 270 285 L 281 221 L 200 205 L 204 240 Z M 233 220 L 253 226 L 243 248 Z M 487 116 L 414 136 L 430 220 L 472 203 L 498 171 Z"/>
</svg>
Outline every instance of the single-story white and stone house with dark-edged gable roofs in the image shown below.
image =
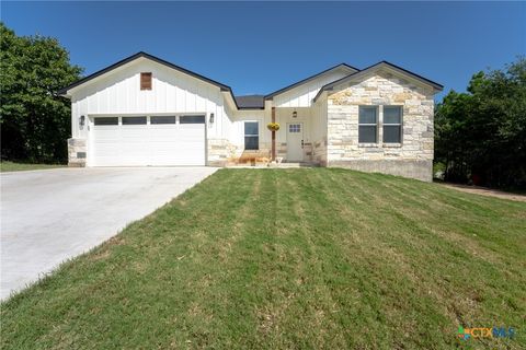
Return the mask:
<svg viewBox="0 0 526 350">
<path fill-rule="evenodd" d="M 267 95 L 145 52 L 62 89 L 71 166 L 307 162 L 432 179 L 433 96 L 443 86 L 387 61 L 342 63 Z M 267 125 L 275 121 L 279 130 Z"/>
</svg>

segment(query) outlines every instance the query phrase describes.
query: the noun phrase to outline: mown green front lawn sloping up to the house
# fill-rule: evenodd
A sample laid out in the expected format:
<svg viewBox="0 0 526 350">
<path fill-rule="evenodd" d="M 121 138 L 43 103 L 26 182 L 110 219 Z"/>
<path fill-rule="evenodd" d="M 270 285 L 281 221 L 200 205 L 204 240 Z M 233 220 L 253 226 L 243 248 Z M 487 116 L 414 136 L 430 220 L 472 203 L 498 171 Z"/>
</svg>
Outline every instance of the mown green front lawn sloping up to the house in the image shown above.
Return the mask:
<svg viewBox="0 0 526 350">
<path fill-rule="evenodd" d="M 2 305 L 4 349 L 524 349 L 526 203 L 221 170 Z M 457 338 L 458 326 L 514 339 Z"/>
</svg>

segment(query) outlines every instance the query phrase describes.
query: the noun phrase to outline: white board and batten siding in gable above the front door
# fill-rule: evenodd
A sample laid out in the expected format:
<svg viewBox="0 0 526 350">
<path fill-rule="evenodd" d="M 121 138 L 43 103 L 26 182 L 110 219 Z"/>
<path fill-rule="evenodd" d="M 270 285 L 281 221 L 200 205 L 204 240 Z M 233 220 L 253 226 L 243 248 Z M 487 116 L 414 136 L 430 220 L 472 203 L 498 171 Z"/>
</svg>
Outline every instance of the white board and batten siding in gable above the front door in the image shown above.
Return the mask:
<svg viewBox="0 0 526 350">
<path fill-rule="evenodd" d="M 275 107 L 310 107 L 312 100 L 320 89 L 335 80 L 350 74 L 348 70 L 336 69 L 327 72 L 311 81 L 307 81 L 294 89 L 285 91 L 273 97 Z"/>
</svg>

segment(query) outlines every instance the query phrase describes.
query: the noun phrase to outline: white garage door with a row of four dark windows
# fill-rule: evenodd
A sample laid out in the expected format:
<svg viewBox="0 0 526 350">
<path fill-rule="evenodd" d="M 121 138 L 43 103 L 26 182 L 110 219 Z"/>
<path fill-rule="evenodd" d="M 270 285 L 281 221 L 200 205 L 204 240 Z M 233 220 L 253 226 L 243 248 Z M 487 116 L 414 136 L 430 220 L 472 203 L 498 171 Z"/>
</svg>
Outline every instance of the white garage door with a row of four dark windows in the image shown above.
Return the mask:
<svg viewBox="0 0 526 350">
<path fill-rule="evenodd" d="M 205 116 L 94 117 L 91 166 L 205 165 Z"/>
</svg>

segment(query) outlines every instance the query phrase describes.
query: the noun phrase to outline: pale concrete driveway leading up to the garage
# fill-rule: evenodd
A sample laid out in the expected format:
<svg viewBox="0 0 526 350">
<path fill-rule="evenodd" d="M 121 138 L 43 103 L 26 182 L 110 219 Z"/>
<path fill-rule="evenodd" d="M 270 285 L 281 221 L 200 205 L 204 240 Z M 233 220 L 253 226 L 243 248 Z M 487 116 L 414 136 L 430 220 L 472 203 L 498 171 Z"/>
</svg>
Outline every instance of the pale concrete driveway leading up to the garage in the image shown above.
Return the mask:
<svg viewBox="0 0 526 350">
<path fill-rule="evenodd" d="M 215 171 L 118 167 L 1 174 L 0 298 L 101 244 Z"/>
</svg>

